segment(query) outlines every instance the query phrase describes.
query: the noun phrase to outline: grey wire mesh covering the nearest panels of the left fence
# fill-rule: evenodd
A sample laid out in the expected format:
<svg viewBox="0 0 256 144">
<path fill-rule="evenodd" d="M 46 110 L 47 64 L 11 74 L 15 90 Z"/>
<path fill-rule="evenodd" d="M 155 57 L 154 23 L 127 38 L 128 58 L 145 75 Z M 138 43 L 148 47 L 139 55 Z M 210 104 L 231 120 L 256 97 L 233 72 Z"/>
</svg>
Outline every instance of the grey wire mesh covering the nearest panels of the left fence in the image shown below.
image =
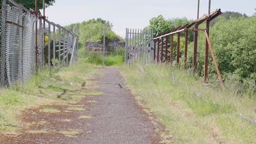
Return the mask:
<svg viewBox="0 0 256 144">
<path fill-rule="evenodd" d="M 26 82 L 34 68 L 34 15 L 7 5 L 1 35 L 1 86 Z"/>
</svg>

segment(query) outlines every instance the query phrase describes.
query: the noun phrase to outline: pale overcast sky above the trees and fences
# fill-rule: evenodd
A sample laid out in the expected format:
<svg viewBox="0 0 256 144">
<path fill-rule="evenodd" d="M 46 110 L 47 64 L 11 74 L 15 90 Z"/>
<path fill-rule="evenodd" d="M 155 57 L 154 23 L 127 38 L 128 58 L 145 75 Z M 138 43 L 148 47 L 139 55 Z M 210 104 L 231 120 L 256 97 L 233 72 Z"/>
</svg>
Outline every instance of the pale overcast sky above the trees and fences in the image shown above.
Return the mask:
<svg viewBox="0 0 256 144">
<path fill-rule="evenodd" d="M 237 11 L 253 15 L 256 0 L 212 0 L 211 11 Z M 208 0 L 200 1 L 200 16 L 208 13 Z M 163 15 L 166 19 L 197 17 L 197 0 L 56 0 L 53 6 L 46 8 L 50 21 L 66 26 L 93 18 L 102 18 L 113 23 L 113 31 L 122 37 L 125 28 L 144 28 L 152 17 Z"/>
</svg>

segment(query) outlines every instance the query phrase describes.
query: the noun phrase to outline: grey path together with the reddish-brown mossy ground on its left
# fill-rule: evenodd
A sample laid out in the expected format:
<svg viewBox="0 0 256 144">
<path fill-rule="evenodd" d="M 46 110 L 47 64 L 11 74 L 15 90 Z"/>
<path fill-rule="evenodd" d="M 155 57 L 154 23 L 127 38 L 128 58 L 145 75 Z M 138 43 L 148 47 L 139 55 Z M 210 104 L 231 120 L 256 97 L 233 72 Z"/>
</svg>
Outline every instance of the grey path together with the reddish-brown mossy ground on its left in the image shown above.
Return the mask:
<svg viewBox="0 0 256 144">
<path fill-rule="evenodd" d="M 95 79 L 96 91 L 104 94 L 73 104 L 84 111 L 63 112 L 68 108 L 65 105 L 45 106 L 61 113 L 42 113 L 42 107 L 28 110 L 22 119 L 34 124 L 18 136 L 0 135 L 0 143 L 159 143 L 153 124 L 125 88 L 118 69 L 98 70 L 103 76 Z"/>
</svg>

